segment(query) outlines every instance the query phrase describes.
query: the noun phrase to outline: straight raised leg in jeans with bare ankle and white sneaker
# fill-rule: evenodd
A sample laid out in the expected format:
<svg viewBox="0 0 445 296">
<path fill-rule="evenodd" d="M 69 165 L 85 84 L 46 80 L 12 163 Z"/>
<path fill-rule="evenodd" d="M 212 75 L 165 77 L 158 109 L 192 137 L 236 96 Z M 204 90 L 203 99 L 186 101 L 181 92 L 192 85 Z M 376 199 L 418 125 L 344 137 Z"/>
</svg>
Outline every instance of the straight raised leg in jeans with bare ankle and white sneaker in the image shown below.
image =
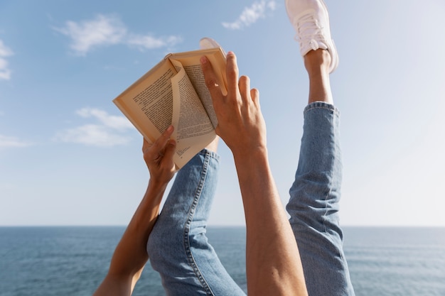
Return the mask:
<svg viewBox="0 0 445 296">
<path fill-rule="evenodd" d="M 329 83 L 338 56 L 331 42 L 328 11 L 322 0 L 287 0 L 286 5 L 309 75 L 309 105 L 304 110 L 299 165 L 286 209 L 309 295 L 354 295 L 338 221 L 340 114 L 333 106 Z"/>
</svg>

